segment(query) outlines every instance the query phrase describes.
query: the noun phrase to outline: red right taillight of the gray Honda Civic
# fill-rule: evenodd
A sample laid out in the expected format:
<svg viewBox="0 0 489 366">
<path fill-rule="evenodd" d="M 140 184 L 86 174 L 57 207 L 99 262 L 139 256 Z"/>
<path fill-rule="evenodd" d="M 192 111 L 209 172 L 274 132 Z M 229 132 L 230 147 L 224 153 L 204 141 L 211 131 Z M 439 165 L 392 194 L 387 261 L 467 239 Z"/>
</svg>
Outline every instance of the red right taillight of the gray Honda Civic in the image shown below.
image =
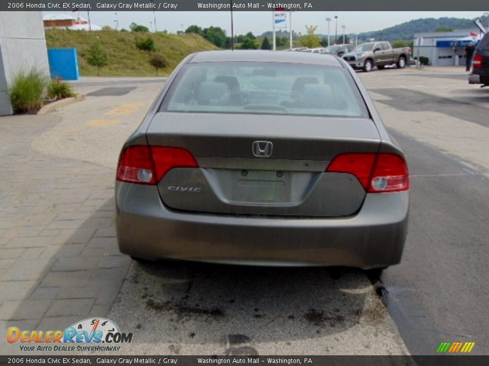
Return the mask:
<svg viewBox="0 0 489 366">
<path fill-rule="evenodd" d="M 409 190 L 408 166 L 396 154 L 341 154 L 326 171 L 355 175 L 369 193 Z"/>
</svg>

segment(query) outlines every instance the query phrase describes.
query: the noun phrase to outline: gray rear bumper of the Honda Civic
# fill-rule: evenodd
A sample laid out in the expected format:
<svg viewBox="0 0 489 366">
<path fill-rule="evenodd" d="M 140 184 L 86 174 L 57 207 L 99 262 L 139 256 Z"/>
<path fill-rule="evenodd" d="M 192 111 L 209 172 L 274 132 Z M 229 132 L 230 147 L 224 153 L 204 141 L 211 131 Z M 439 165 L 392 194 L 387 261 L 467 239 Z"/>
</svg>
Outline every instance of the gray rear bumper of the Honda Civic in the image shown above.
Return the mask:
<svg viewBox="0 0 489 366">
<path fill-rule="evenodd" d="M 368 269 L 399 263 L 409 193 L 368 194 L 350 218 L 240 217 L 173 211 L 155 186 L 117 181 L 116 208 L 119 249 L 134 257 Z"/>
</svg>

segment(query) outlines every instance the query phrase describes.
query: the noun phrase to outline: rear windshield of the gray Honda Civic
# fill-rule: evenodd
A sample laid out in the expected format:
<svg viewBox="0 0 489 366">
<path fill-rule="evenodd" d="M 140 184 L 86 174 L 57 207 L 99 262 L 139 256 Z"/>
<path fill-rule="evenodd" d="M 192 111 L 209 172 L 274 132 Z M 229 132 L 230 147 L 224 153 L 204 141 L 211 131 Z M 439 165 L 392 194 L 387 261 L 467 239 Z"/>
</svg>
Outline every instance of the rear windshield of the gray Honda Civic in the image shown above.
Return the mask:
<svg viewBox="0 0 489 366">
<path fill-rule="evenodd" d="M 160 110 L 368 117 L 346 69 L 278 63 L 188 64 Z"/>
</svg>

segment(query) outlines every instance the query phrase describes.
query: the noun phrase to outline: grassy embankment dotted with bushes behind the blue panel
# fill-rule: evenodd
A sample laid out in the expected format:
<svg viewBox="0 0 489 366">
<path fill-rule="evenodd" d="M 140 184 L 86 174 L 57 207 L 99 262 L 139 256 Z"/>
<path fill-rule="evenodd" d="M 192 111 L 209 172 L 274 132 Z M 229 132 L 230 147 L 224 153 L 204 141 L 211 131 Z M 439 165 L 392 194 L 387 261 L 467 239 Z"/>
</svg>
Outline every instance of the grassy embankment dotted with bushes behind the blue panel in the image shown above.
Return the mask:
<svg viewBox="0 0 489 366">
<path fill-rule="evenodd" d="M 78 66 L 82 75 L 97 75 L 97 69 L 85 60 L 87 50 L 94 42 L 100 42 L 108 55 L 108 65 L 100 71 L 102 76 L 154 76 L 155 69 L 149 64 L 154 53 L 162 54 L 168 60 L 168 67 L 159 71 L 159 75 L 168 75 L 189 53 L 217 49 L 197 34 L 120 32 L 113 29 L 96 32 L 46 29 L 45 34 L 48 48 L 78 50 Z M 148 37 L 154 41 L 154 52 L 135 46 L 137 39 Z"/>
</svg>

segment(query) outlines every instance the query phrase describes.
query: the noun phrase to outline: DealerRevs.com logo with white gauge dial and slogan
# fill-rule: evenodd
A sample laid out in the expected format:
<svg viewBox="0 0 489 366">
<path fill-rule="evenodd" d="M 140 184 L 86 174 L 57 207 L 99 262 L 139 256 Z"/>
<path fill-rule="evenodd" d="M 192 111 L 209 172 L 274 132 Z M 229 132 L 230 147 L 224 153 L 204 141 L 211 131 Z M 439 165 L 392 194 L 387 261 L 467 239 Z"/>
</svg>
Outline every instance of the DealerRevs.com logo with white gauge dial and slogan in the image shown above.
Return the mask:
<svg viewBox="0 0 489 366">
<path fill-rule="evenodd" d="M 124 333 L 112 320 L 89 318 L 65 330 L 20 330 L 10 327 L 7 342 L 19 343 L 21 351 L 119 351 L 118 344 L 131 343 L 132 333 Z M 102 345 L 103 344 L 103 345 Z"/>
</svg>

